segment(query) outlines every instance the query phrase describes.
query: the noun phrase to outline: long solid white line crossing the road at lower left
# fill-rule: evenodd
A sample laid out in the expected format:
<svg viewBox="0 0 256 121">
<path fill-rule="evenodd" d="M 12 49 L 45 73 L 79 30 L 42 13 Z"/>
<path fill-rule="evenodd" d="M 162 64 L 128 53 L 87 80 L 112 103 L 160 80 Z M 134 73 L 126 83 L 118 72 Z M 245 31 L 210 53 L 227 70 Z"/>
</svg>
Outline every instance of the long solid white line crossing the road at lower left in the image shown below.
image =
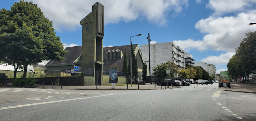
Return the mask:
<svg viewBox="0 0 256 121">
<path fill-rule="evenodd" d="M 75 98 L 75 99 L 64 99 L 64 100 L 59 100 L 59 101 L 48 101 L 48 102 L 42 102 L 42 103 L 31 103 L 31 104 L 25 104 L 25 105 L 8 106 L 8 107 L 2 107 L 2 108 L 0 108 L 0 110 L 10 109 L 10 108 L 19 108 L 19 107 L 25 107 L 25 106 L 33 106 L 33 105 L 42 105 L 42 104 L 49 104 L 49 103 L 58 103 L 58 102 L 65 102 L 65 101 L 74 101 L 74 100 L 88 99 L 88 98 L 94 98 L 94 97 L 103 97 L 103 96 L 109 96 L 109 95 L 113 95 L 113 94 L 98 95 L 98 96 L 93 96 L 93 97 Z"/>
</svg>

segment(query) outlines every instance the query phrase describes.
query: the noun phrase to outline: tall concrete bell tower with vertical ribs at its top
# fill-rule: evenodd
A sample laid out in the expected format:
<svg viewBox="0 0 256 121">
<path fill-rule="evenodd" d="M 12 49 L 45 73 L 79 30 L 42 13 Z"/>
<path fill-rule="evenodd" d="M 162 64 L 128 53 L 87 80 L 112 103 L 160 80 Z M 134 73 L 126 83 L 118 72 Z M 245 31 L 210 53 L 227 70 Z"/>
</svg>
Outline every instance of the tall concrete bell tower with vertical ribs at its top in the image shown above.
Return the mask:
<svg viewBox="0 0 256 121">
<path fill-rule="evenodd" d="M 101 85 L 103 70 L 104 6 L 93 5 L 92 12 L 80 21 L 82 31 L 82 68 L 92 68 L 95 84 Z M 97 83 L 96 83 L 97 82 Z"/>
</svg>

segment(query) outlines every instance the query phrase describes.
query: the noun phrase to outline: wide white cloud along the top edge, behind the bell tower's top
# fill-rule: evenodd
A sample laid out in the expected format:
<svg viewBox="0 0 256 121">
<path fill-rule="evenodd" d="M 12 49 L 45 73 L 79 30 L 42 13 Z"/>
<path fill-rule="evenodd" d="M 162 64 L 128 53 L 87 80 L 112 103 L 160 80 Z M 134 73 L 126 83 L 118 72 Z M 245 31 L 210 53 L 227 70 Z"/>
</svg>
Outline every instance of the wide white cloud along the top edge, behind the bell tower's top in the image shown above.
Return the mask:
<svg viewBox="0 0 256 121">
<path fill-rule="evenodd" d="M 92 5 L 100 2 L 105 6 L 105 25 L 130 22 L 146 18 L 149 22 L 164 25 L 169 13 L 180 13 L 188 6 L 188 0 L 31 0 L 41 7 L 45 16 L 53 21 L 57 31 L 81 26 L 80 20 L 92 11 Z"/>
</svg>

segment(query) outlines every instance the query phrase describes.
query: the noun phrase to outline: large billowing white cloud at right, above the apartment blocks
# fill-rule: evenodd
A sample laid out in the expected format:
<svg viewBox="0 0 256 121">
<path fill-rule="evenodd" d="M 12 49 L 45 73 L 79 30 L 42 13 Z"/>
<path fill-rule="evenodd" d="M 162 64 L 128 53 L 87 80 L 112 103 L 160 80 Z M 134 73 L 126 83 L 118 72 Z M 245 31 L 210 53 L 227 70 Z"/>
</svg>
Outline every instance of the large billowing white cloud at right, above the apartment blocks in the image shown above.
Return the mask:
<svg viewBox="0 0 256 121">
<path fill-rule="evenodd" d="M 195 28 L 206 33 L 202 40 L 174 40 L 182 49 L 198 49 L 199 51 L 211 49 L 234 52 L 235 48 L 245 38 L 247 31 L 255 31 L 256 26 L 249 23 L 256 20 L 256 10 L 239 13 L 237 16 L 213 17 L 199 20 Z"/>
</svg>

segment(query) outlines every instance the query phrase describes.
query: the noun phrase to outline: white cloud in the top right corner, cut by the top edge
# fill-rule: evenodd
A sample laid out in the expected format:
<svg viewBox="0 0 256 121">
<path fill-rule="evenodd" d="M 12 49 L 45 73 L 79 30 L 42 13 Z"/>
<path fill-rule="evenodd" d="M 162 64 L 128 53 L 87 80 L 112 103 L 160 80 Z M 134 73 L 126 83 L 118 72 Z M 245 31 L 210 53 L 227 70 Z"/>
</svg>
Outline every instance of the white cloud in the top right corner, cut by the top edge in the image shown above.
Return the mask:
<svg viewBox="0 0 256 121">
<path fill-rule="evenodd" d="M 213 15 L 219 16 L 254 9 L 255 2 L 256 0 L 209 0 L 206 7 L 214 11 Z"/>
</svg>

